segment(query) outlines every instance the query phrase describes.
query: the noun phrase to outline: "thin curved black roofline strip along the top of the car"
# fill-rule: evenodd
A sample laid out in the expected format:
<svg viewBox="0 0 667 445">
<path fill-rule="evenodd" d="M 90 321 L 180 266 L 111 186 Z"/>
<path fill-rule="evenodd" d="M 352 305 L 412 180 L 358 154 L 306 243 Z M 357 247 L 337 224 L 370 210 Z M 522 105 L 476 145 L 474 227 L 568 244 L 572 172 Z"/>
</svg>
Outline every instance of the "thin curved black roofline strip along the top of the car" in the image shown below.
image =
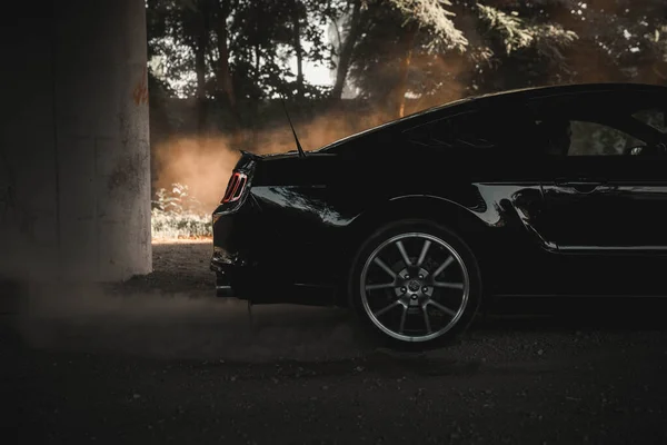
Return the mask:
<svg viewBox="0 0 667 445">
<path fill-rule="evenodd" d="M 529 87 L 520 89 L 504 90 L 498 92 L 490 92 L 486 95 L 469 96 L 459 100 L 442 103 L 436 107 L 427 108 L 421 111 L 408 115 L 406 117 L 391 120 L 389 122 L 379 125 L 377 127 L 369 128 L 365 131 L 350 135 L 346 138 L 339 139 L 325 147 L 321 147 L 315 151 L 327 151 L 336 148 L 346 142 L 352 141 L 362 136 L 381 131 L 382 129 L 404 126 L 404 125 L 420 125 L 419 122 L 430 117 L 436 117 L 440 111 L 457 112 L 458 109 L 475 109 L 481 107 L 485 103 L 491 105 L 497 101 L 526 101 L 531 99 L 550 98 L 558 96 L 577 96 L 595 92 L 609 92 L 609 93 L 651 93 L 656 96 L 667 96 L 667 87 L 648 83 L 619 83 L 619 82 L 601 82 L 601 83 L 567 83 L 557 86 L 542 86 L 542 87 Z"/>
</svg>

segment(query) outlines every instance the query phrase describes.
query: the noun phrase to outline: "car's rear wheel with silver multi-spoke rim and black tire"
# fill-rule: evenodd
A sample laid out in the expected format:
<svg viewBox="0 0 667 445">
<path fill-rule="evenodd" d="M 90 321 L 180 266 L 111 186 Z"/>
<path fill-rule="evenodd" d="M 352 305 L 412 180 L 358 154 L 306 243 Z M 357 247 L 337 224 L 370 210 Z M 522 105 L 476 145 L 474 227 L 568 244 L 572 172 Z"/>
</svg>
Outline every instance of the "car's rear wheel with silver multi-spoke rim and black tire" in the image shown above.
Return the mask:
<svg viewBox="0 0 667 445">
<path fill-rule="evenodd" d="M 468 328 L 481 301 L 481 276 L 475 255 L 454 231 L 428 220 L 400 220 L 361 245 L 348 297 L 359 323 L 385 346 L 426 350 L 451 344 Z"/>
</svg>

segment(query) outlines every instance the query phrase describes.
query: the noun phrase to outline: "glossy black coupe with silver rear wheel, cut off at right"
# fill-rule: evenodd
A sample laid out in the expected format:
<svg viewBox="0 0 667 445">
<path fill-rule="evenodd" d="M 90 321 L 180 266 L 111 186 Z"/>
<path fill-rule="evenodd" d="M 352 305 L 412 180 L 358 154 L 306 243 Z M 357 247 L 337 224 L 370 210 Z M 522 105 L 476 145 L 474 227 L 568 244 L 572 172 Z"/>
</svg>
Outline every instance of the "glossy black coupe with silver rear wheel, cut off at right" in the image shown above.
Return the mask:
<svg viewBox="0 0 667 445">
<path fill-rule="evenodd" d="M 658 86 L 544 87 L 243 152 L 212 216 L 217 294 L 347 306 L 421 348 L 491 298 L 667 295 L 666 108 Z"/>
</svg>

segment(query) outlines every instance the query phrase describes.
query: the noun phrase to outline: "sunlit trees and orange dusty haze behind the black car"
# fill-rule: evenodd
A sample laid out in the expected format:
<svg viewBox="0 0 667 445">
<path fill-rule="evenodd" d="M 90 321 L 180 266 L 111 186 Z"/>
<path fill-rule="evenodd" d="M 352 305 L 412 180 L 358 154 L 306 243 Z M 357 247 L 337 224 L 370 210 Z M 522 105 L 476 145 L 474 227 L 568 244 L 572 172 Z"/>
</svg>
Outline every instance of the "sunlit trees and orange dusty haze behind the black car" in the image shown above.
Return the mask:
<svg viewBox="0 0 667 445">
<path fill-rule="evenodd" d="M 295 148 L 280 97 L 316 149 L 471 95 L 667 85 L 665 0 L 146 4 L 156 237 L 208 234 L 240 149 Z"/>
</svg>

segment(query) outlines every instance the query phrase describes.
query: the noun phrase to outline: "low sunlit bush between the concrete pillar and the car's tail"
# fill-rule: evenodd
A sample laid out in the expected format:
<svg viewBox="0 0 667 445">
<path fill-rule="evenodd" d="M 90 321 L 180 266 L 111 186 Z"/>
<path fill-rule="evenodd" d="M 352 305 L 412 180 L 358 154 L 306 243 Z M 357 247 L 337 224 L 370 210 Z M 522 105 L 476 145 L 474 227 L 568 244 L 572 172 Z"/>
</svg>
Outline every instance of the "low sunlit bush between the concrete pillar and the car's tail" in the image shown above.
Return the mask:
<svg viewBox="0 0 667 445">
<path fill-rule="evenodd" d="M 161 188 L 152 201 L 151 231 L 153 238 L 200 238 L 212 236 L 211 218 L 201 202 L 190 196 L 188 186 L 173 184 Z"/>
</svg>

